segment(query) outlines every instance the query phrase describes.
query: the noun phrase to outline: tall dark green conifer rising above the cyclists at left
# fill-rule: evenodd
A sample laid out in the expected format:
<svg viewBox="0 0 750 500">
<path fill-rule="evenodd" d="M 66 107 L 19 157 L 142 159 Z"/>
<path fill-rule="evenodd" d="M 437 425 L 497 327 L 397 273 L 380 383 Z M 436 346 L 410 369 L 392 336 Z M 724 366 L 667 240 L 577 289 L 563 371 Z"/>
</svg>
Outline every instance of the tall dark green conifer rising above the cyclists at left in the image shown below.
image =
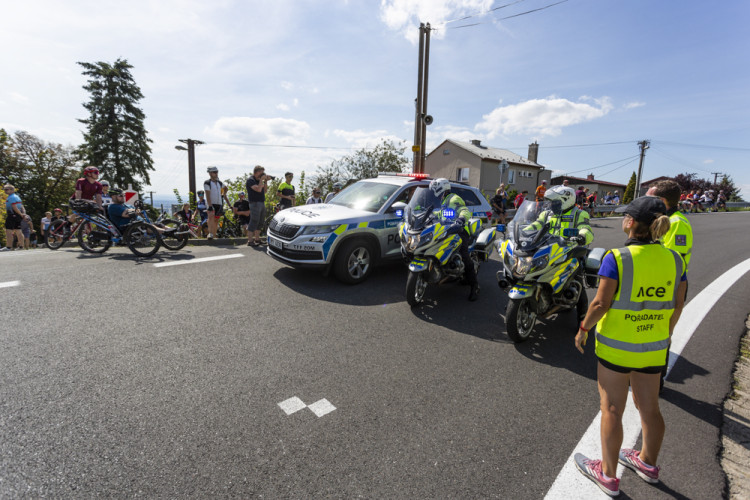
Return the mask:
<svg viewBox="0 0 750 500">
<path fill-rule="evenodd" d="M 148 138 L 143 120 L 146 115 L 138 107 L 143 98 L 127 60 L 79 62 L 89 77 L 83 86 L 90 94 L 83 107 L 89 112 L 85 120 L 84 143 L 79 147 L 81 159 L 101 171 L 100 178 L 123 189 L 132 184 L 140 190 L 149 184 L 153 142 Z"/>
</svg>

